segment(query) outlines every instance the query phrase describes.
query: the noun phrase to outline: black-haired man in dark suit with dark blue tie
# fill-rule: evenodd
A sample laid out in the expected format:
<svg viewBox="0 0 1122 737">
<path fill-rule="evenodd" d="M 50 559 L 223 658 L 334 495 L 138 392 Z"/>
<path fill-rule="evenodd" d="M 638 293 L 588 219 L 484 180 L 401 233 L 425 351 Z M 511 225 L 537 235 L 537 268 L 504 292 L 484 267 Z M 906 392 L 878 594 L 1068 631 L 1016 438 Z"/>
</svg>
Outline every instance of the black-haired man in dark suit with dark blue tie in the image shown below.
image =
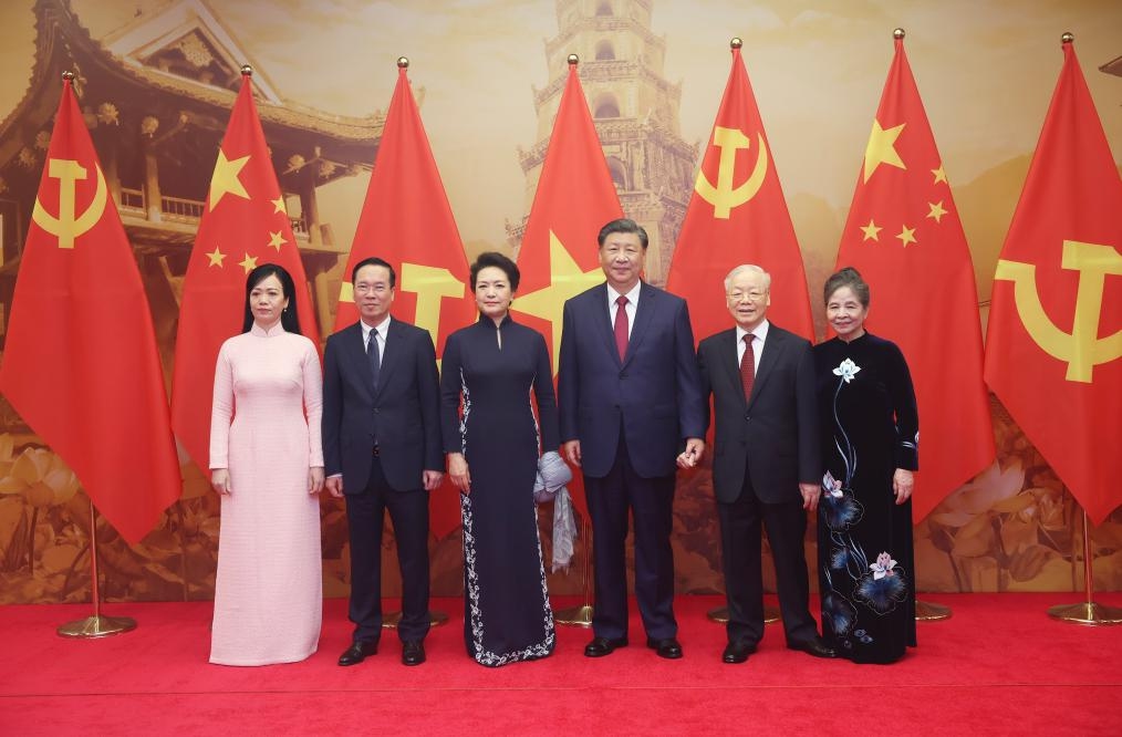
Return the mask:
<svg viewBox="0 0 1122 737">
<path fill-rule="evenodd" d="M 396 274 L 380 258 L 351 271 L 359 321 L 328 339 L 323 460 L 328 490 L 347 498 L 351 646 L 340 665 L 378 652 L 381 526 L 394 522 L 402 572 L 402 663 L 425 660 L 429 633 L 429 491 L 440 486 L 440 381 L 429 332 L 389 316 Z"/>
</svg>

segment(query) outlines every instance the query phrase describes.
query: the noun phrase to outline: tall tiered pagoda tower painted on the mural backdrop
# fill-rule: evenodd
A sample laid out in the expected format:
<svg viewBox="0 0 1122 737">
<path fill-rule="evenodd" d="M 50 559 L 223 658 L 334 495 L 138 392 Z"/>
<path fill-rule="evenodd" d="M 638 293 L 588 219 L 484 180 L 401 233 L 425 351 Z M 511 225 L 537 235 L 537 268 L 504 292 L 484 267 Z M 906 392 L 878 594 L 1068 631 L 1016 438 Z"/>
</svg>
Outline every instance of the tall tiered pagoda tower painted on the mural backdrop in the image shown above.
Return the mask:
<svg viewBox="0 0 1122 737">
<path fill-rule="evenodd" d="M 646 277 L 661 285 L 693 191 L 698 149 L 679 129 L 681 84 L 663 76 L 666 42 L 651 33 L 652 0 L 557 0 L 559 33 L 545 42 L 550 83 L 534 89 L 537 142 L 518 149 L 530 212 L 553 119 L 561 103 L 569 54 L 624 212 L 650 236 Z M 526 215 L 528 217 L 528 215 Z M 507 225 L 517 254 L 526 220 Z"/>
</svg>

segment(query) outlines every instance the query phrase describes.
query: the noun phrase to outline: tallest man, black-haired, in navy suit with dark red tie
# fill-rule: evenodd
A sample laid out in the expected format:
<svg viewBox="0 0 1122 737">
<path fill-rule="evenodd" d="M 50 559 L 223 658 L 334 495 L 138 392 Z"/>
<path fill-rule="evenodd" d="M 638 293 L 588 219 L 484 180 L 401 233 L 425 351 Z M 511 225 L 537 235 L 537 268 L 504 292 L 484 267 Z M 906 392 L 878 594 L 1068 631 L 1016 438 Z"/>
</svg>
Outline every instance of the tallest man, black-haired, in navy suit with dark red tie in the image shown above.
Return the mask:
<svg viewBox="0 0 1122 737">
<path fill-rule="evenodd" d="M 565 302 L 558 372 L 561 439 L 567 458 L 583 472 L 594 532 L 594 637 L 585 655 L 609 655 L 627 644 L 629 512 L 646 644 L 678 658 L 670 546 L 674 472 L 675 466 L 696 464 L 705 451 L 693 333 L 686 301 L 640 278 L 643 228 L 614 220 L 598 242 L 607 283 Z"/>
</svg>

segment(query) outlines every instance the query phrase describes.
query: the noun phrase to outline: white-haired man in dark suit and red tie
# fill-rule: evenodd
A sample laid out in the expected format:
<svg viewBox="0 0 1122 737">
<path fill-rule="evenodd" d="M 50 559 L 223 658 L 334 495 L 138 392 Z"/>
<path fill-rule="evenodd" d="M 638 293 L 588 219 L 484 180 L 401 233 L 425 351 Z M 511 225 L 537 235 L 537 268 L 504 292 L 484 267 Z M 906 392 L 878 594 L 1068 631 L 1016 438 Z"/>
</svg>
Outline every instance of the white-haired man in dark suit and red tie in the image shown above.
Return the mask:
<svg viewBox="0 0 1122 737">
<path fill-rule="evenodd" d="M 810 615 L 802 546 L 822 477 L 810 343 L 767 321 L 771 276 L 758 266 L 733 269 L 725 296 L 736 326 L 698 346 L 702 396 L 712 393 L 717 420 L 712 488 L 728 597 L 721 660 L 743 663 L 764 634 L 761 523 L 775 561 L 787 646 L 835 657 Z"/>
</svg>

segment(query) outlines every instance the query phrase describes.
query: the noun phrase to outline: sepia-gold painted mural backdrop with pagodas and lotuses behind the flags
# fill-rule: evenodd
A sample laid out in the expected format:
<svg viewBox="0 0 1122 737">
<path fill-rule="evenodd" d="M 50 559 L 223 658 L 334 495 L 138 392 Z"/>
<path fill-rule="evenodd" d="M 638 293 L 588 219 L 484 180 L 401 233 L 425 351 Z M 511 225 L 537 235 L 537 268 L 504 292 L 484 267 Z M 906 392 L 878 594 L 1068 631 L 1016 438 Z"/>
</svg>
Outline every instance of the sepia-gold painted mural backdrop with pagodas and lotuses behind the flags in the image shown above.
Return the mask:
<svg viewBox="0 0 1122 737">
<path fill-rule="evenodd" d="M 412 59 L 410 75 L 470 258 L 489 249 L 517 254 L 564 57 L 578 53 L 620 202 L 651 232 L 649 277 L 661 284 L 728 73 L 728 39 L 742 36 L 813 300 L 834 265 L 896 26 L 909 31 L 909 58 L 966 229 L 984 324 L 994 265 L 1060 67 L 1061 31 L 1075 34 L 1112 149 L 1122 151 L 1122 42 L 1111 33 L 1122 27 L 1116 2 L 963 0 L 901 9 L 888 0 L 12 0 L 0 8 L 0 324 L 57 105 L 57 76 L 44 90 L 31 89 L 33 74 L 67 55 L 86 64 L 80 81 L 90 72 L 86 121 L 102 160 L 117 162 L 112 191 L 169 376 L 186 255 L 213 169 L 212 141 L 228 117 L 214 105 L 232 104 L 227 92 L 241 63 L 257 70 L 274 165 L 322 332 L 332 324 L 399 55 Z M 94 68 L 117 70 L 134 86 L 128 93 L 99 86 Z M 813 307 L 821 335 L 821 308 Z M 875 330 L 875 312 L 871 324 Z M 1079 509 L 991 402 L 997 461 L 917 522 L 919 588 L 1079 589 L 1082 561 L 1073 556 Z M 1107 444 L 1116 448 L 1118 440 Z M 181 461 L 183 496 L 140 544 L 126 545 L 99 524 L 105 598 L 212 597 L 219 500 L 199 469 Z M 548 545 L 552 515 L 540 516 Z M 325 499 L 322 519 L 324 595 L 344 596 L 341 504 Z M 86 600 L 89 525 L 77 479 L 0 400 L 0 602 Z M 1122 589 L 1122 512 L 1093 537 L 1096 587 Z M 809 546 L 813 540 L 809 534 Z M 384 544 L 392 588 L 394 545 L 389 536 Z M 434 595 L 459 595 L 459 532 L 431 544 Z M 706 470 L 680 479 L 673 544 L 679 591 L 723 590 Z M 553 592 L 581 590 L 582 553 L 578 544 L 572 570 L 551 575 Z"/>
</svg>

